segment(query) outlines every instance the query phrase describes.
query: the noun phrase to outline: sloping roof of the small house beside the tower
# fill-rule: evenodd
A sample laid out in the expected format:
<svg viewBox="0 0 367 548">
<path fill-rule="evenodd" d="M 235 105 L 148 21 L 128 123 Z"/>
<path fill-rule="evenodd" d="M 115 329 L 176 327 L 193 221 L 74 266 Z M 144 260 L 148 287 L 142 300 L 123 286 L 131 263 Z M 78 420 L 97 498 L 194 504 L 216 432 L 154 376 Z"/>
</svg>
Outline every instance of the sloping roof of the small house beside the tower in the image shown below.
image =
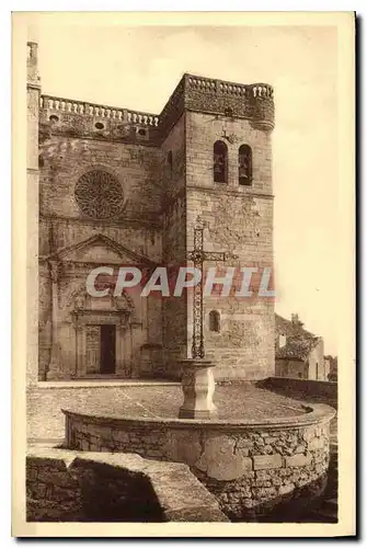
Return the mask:
<svg viewBox="0 0 367 548">
<path fill-rule="evenodd" d="M 276 359 L 299 359 L 305 362 L 321 338 L 307 331 L 299 321 L 287 320 L 275 315 L 275 357 Z M 279 347 L 279 335 L 286 336 L 286 344 Z"/>
</svg>

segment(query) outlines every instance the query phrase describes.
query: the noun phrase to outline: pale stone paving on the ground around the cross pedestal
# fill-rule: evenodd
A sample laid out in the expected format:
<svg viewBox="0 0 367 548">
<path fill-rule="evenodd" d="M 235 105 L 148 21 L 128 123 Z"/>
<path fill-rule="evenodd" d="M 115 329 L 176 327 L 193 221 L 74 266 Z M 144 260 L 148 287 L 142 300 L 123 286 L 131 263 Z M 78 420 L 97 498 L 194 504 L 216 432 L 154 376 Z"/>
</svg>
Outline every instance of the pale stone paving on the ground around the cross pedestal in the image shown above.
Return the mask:
<svg viewBox="0 0 367 548">
<path fill-rule="evenodd" d="M 217 386 L 219 419 L 265 420 L 305 413 L 300 401 L 250 384 Z M 176 418 L 183 401 L 181 386 L 32 387 L 27 393 L 27 437 L 57 441 L 64 437 L 61 409 L 135 418 Z"/>
</svg>

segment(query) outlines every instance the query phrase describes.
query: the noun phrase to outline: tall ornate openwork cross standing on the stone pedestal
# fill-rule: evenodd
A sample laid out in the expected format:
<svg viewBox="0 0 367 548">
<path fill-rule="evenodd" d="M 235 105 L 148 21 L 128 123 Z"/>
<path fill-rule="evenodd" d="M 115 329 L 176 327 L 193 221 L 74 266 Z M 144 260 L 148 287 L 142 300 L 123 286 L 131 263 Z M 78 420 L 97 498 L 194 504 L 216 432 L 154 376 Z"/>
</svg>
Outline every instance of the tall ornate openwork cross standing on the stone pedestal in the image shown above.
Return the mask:
<svg viewBox="0 0 367 548">
<path fill-rule="evenodd" d="M 194 267 L 202 273 L 200 282 L 194 287 L 193 298 L 193 344 L 192 357 L 204 358 L 204 313 L 203 313 L 203 266 L 204 261 L 227 261 L 238 259 L 230 252 L 204 251 L 204 228 L 194 229 L 194 249 L 187 254 L 187 259 L 194 262 Z"/>
</svg>

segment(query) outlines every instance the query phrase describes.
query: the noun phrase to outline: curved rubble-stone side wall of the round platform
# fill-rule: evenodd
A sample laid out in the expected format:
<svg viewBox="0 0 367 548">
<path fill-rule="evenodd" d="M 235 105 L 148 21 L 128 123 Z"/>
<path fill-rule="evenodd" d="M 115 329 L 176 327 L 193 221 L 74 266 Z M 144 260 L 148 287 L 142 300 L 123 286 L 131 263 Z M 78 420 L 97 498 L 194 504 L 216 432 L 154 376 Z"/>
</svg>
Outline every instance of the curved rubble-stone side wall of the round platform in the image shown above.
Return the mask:
<svg viewBox="0 0 367 548">
<path fill-rule="evenodd" d="M 303 504 L 310 490 L 323 487 L 333 415 L 322 404 L 297 418 L 262 424 L 134 421 L 66 412 L 66 445 L 185 463 L 232 521 L 267 518 L 284 499 L 298 498 Z"/>
</svg>

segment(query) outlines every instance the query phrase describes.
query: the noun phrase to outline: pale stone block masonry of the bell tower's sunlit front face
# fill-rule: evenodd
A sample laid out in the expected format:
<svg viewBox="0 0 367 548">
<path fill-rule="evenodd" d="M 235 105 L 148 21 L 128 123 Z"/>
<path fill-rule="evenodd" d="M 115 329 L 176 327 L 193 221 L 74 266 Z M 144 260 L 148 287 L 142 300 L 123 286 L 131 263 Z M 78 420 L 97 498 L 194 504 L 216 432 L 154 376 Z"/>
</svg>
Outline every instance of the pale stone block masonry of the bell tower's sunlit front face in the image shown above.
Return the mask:
<svg viewBox="0 0 367 548">
<path fill-rule="evenodd" d="M 232 135 L 227 140 L 225 136 Z M 226 142 L 226 183 L 213 182 L 213 144 Z M 251 185 L 239 184 L 239 147 L 253 150 Z M 272 140 L 268 132 L 254 128 L 251 121 L 214 118 L 202 112 L 186 113 L 186 235 L 193 247 L 197 219 L 206 227 L 205 249 L 227 251 L 238 260 L 209 266 L 273 266 Z M 219 270 L 218 269 L 218 270 Z M 220 274 L 218 273 L 218 276 Z M 192 333 L 192 299 L 187 298 L 188 333 Z M 216 310 L 220 331 L 209 329 L 208 317 Z M 216 363 L 216 379 L 260 379 L 274 370 L 274 299 L 240 298 L 230 295 L 204 299 L 206 357 Z M 188 338 L 188 341 L 190 338 Z"/>
</svg>

